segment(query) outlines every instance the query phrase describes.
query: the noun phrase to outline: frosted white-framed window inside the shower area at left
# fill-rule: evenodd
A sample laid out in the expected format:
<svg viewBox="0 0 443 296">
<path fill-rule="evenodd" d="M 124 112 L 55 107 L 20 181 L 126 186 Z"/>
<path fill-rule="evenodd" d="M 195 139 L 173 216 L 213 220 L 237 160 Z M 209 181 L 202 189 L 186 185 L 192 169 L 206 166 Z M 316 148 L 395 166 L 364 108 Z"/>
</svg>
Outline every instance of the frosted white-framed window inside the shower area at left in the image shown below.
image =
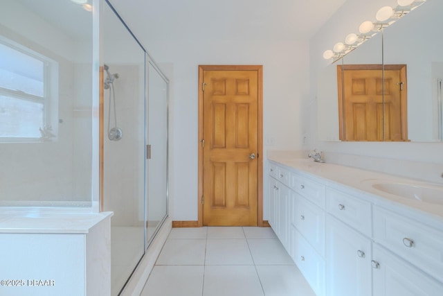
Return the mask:
<svg viewBox="0 0 443 296">
<path fill-rule="evenodd" d="M 56 62 L 0 39 L 1 142 L 57 139 L 57 84 Z"/>
</svg>

